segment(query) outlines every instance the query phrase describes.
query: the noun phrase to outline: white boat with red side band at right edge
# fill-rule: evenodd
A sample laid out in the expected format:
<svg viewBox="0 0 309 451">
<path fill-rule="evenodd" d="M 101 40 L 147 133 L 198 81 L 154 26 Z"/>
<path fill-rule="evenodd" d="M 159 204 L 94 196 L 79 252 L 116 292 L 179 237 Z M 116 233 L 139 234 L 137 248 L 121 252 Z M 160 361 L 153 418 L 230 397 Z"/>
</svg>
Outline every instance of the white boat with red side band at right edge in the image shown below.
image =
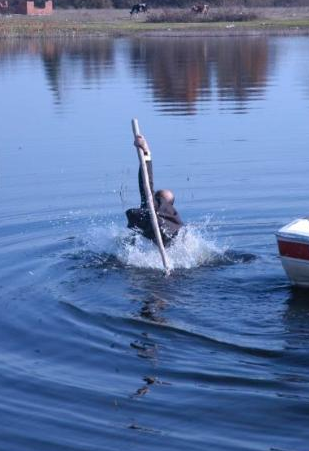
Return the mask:
<svg viewBox="0 0 309 451">
<path fill-rule="evenodd" d="M 296 219 L 276 236 L 282 266 L 291 283 L 309 287 L 309 218 Z"/>
</svg>

